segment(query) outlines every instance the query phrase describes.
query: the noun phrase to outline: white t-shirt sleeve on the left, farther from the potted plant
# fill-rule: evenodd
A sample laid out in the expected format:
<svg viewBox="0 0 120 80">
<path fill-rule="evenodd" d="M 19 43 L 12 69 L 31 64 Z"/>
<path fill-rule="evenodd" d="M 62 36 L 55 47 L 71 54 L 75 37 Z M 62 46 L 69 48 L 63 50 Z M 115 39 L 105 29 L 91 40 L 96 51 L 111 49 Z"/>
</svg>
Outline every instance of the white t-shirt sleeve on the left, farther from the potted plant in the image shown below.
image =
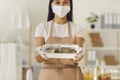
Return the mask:
<svg viewBox="0 0 120 80">
<path fill-rule="evenodd" d="M 44 37 L 44 26 L 40 23 L 35 29 L 35 37 Z"/>
</svg>

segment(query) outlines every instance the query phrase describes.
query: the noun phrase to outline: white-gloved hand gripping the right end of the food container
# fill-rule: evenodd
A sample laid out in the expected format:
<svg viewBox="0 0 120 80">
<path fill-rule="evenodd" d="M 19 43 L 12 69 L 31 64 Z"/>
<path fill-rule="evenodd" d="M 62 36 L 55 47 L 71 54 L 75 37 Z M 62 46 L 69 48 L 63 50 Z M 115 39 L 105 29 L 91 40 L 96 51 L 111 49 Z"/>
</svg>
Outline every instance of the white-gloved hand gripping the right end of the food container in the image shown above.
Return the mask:
<svg viewBox="0 0 120 80">
<path fill-rule="evenodd" d="M 75 57 L 73 58 L 74 62 L 80 61 L 84 57 L 83 48 L 78 48 Z"/>
</svg>

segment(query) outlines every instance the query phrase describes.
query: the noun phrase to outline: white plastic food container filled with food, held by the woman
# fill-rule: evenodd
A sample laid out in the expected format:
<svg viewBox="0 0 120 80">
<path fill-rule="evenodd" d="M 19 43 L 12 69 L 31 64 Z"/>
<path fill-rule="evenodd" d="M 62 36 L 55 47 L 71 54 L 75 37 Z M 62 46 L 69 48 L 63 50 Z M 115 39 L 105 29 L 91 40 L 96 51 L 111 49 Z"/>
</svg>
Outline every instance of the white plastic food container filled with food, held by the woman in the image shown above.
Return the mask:
<svg viewBox="0 0 120 80">
<path fill-rule="evenodd" d="M 74 44 L 43 45 L 43 51 L 46 52 L 48 58 L 74 58 L 78 48 L 79 46 Z"/>
</svg>

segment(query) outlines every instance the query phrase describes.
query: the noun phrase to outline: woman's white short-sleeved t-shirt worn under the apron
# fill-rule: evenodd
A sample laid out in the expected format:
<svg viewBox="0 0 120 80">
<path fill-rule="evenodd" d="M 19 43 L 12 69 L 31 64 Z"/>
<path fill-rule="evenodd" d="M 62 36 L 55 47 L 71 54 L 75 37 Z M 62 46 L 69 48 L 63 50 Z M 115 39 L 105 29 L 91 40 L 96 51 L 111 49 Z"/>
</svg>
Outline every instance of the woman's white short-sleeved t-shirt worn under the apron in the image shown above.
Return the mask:
<svg viewBox="0 0 120 80">
<path fill-rule="evenodd" d="M 42 22 L 36 27 L 35 31 L 35 37 L 44 37 L 45 42 L 50 36 L 50 27 L 51 27 L 52 21 L 49 22 Z M 84 35 L 84 29 L 73 22 L 70 22 L 70 27 L 71 27 L 71 34 L 72 37 L 75 38 L 77 36 L 79 37 L 85 37 Z M 68 23 L 65 24 L 57 24 L 54 22 L 54 27 L 53 27 L 53 33 L 52 36 L 55 37 L 69 37 L 68 34 Z"/>
</svg>

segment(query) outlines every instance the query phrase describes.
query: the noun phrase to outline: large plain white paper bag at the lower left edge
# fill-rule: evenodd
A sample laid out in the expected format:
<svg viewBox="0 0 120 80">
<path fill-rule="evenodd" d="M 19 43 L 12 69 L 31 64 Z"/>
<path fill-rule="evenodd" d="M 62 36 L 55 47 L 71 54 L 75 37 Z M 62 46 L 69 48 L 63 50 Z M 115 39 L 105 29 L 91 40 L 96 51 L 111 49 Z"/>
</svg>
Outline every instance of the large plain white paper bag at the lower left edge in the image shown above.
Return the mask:
<svg viewBox="0 0 120 80">
<path fill-rule="evenodd" d="M 0 80 L 21 80 L 22 60 L 17 59 L 18 54 L 16 44 L 0 44 Z"/>
</svg>

